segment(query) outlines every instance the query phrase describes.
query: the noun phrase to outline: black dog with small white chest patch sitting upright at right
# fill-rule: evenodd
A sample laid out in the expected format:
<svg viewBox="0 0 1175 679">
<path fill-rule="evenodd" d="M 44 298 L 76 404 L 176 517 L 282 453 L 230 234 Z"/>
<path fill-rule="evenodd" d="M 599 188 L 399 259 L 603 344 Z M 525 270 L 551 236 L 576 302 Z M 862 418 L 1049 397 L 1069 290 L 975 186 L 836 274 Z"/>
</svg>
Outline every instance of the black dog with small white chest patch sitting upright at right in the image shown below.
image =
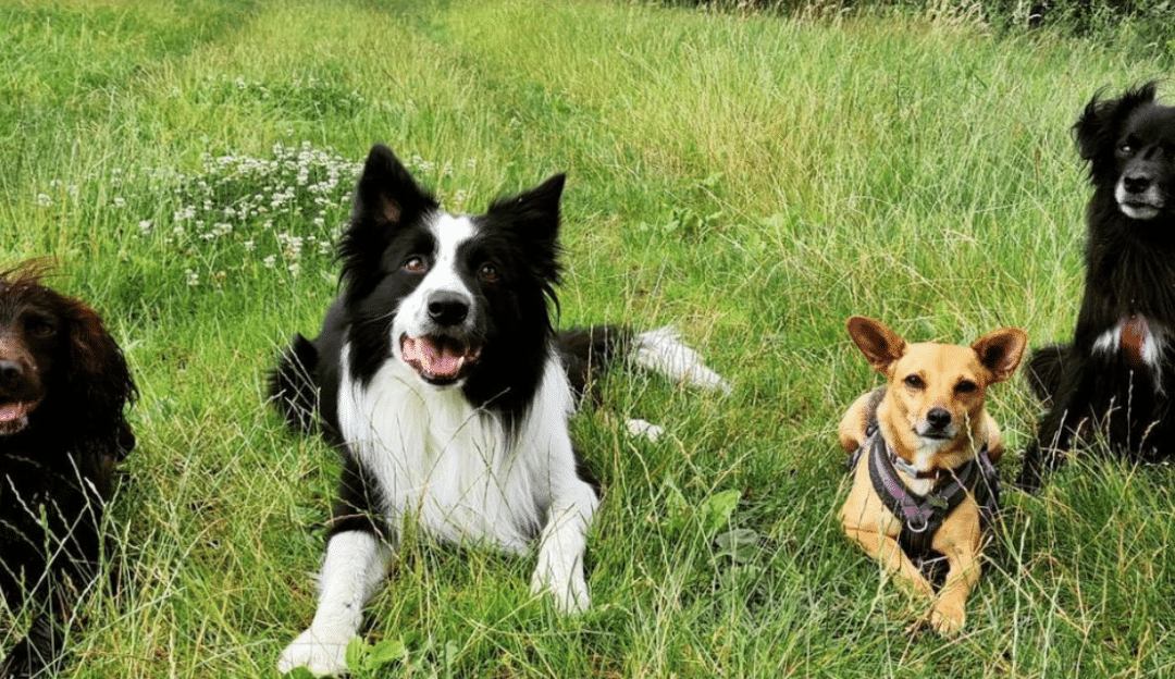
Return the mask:
<svg viewBox="0 0 1175 679">
<path fill-rule="evenodd" d="M 1028 363 L 1048 404 L 1016 482 L 1028 490 L 1093 437 L 1137 459 L 1175 453 L 1175 107 L 1153 82 L 1095 95 L 1073 132 L 1094 187 L 1085 297 L 1073 343 Z"/>
</svg>

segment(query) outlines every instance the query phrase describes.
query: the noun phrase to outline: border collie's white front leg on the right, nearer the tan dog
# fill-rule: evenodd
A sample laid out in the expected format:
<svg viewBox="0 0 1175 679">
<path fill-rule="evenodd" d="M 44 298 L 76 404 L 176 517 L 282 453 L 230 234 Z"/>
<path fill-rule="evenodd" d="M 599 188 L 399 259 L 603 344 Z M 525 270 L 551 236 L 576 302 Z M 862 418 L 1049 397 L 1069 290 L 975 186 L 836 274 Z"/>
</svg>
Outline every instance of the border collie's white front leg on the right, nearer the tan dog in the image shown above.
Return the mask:
<svg viewBox="0 0 1175 679">
<path fill-rule="evenodd" d="M 539 536 L 538 566 L 530 580 L 533 594 L 550 592 L 563 614 L 582 613 L 590 605 L 584 579 L 588 526 L 599 499 L 585 482 L 572 479 L 558 491 Z"/>
</svg>

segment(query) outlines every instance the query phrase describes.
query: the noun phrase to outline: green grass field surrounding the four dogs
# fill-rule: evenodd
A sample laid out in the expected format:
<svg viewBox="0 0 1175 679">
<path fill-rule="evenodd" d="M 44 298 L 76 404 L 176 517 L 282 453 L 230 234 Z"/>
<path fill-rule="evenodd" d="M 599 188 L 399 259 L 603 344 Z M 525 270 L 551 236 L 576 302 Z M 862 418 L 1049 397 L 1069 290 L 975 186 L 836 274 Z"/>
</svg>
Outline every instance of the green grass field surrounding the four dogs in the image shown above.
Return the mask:
<svg viewBox="0 0 1175 679">
<path fill-rule="evenodd" d="M 673 323 L 737 389 L 618 376 L 576 419 L 605 486 L 592 611 L 531 601 L 529 559 L 410 538 L 358 677 L 1173 671 L 1166 466 L 1081 459 L 1010 495 L 951 640 L 907 632 L 925 606 L 834 520 L 834 426 L 878 383 L 845 318 L 1067 337 L 1087 196 L 1068 128 L 1166 58 L 961 13 L 602 1 L 21 0 L 0 23 L 0 261 L 55 257 L 142 394 L 110 517 L 130 584 L 83 605 L 68 677 L 275 677 L 309 623 L 337 463 L 282 429 L 264 372 L 334 295 L 375 141 L 451 209 L 568 172 L 562 323 Z M 991 408 L 1022 448 L 1022 381 Z M 627 416 L 670 436 L 629 438 Z"/>
</svg>

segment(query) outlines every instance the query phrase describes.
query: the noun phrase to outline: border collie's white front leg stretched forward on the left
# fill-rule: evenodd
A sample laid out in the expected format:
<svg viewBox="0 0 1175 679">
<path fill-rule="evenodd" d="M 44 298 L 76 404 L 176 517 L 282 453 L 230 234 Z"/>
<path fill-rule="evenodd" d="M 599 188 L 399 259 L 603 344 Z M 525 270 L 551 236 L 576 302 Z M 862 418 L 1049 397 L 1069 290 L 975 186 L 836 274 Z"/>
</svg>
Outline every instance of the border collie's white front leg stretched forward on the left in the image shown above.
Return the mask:
<svg viewBox="0 0 1175 679">
<path fill-rule="evenodd" d="M 347 672 L 347 644 L 360 631 L 363 605 L 388 574 L 391 550 L 367 531 L 344 531 L 327 543 L 318 578 L 318 610 L 277 661 L 282 673 L 307 667 L 315 675 Z"/>
</svg>

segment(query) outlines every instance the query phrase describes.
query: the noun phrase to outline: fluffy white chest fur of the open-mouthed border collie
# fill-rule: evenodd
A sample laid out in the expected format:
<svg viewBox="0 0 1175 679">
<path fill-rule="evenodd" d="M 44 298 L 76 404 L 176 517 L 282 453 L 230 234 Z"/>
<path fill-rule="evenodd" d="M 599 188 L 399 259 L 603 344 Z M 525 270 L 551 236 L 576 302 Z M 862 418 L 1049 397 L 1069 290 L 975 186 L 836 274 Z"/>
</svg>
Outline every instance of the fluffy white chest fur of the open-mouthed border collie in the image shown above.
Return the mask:
<svg viewBox="0 0 1175 679">
<path fill-rule="evenodd" d="M 524 551 L 555 489 L 571 480 L 560 477 L 575 473 L 572 396 L 558 363 L 549 361 L 525 422 L 508 438 L 458 388 L 424 384 L 395 358 L 363 386 L 350 377 L 349 355 L 344 344 L 340 426 L 375 476 L 392 525 L 408 517 L 445 540 Z"/>
</svg>

